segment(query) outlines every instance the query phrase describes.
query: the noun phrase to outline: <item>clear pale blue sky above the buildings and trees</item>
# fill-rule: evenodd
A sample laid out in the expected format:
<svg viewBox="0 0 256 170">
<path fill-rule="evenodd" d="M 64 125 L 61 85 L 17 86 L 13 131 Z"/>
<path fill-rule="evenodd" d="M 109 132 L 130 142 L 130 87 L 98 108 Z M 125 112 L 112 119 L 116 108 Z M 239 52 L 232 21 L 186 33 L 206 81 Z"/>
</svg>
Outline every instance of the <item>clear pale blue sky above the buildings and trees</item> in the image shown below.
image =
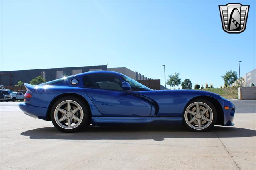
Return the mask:
<svg viewBox="0 0 256 170">
<path fill-rule="evenodd" d="M 246 30 L 222 30 L 218 5 L 250 5 Z M 105 65 L 164 85 L 179 72 L 220 87 L 256 67 L 256 1 L 0 1 L 0 71 Z M 13 62 L 15 61 L 15 62 Z"/>
</svg>

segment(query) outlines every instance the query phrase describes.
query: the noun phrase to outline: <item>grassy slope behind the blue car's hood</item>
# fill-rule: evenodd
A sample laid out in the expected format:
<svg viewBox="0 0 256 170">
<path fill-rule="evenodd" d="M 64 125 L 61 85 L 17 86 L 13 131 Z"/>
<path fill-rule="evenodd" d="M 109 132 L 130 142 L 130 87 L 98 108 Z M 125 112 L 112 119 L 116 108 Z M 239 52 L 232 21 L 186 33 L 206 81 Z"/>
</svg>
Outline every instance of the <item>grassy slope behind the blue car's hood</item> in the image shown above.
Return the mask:
<svg viewBox="0 0 256 170">
<path fill-rule="evenodd" d="M 210 89 L 195 89 L 210 91 L 212 93 L 217 93 L 227 99 L 238 99 L 238 89 L 237 88 L 210 88 Z"/>
</svg>

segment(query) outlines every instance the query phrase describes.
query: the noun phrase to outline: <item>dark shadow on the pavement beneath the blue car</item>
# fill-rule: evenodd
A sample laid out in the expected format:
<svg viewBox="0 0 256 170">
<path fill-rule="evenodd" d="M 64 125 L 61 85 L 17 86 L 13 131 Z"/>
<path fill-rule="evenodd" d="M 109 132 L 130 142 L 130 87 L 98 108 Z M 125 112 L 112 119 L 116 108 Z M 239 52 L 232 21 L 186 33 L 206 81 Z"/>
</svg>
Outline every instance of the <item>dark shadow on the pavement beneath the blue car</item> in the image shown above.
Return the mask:
<svg viewBox="0 0 256 170">
<path fill-rule="evenodd" d="M 135 140 L 151 139 L 161 141 L 166 138 L 237 138 L 256 136 L 256 130 L 236 127 L 215 126 L 208 132 L 190 132 L 185 127 L 94 127 L 89 126 L 77 133 L 62 133 L 55 127 L 44 127 L 22 132 L 31 139 L 63 140 Z"/>
</svg>

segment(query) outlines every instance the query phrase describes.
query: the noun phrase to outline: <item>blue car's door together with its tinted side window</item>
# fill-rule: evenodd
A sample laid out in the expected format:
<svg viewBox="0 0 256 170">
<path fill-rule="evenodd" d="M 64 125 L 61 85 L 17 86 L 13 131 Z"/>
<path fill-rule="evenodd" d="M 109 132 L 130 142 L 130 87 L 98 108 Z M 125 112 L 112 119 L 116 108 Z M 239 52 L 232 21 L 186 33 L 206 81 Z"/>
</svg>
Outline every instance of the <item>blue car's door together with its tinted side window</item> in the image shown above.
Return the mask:
<svg viewBox="0 0 256 170">
<path fill-rule="evenodd" d="M 134 93 L 122 90 L 115 75 L 93 74 L 83 77 L 85 92 L 102 116 L 144 117 L 151 114 L 151 103 Z"/>
</svg>

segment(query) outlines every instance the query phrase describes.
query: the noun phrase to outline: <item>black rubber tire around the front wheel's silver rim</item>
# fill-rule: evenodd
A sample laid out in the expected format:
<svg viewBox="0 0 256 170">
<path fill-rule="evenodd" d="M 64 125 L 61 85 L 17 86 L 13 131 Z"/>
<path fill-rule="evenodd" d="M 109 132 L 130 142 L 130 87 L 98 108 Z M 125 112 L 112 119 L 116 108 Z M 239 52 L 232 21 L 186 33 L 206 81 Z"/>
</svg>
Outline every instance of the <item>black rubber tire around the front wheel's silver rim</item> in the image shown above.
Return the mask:
<svg viewBox="0 0 256 170">
<path fill-rule="evenodd" d="M 212 122 L 210 123 L 210 125 L 208 125 L 208 127 L 204 128 L 204 129 L 195 129 L 195 128 L 192 128 L 188 125 L 188 123 L 186 122 L 186 119 L 185 119 L 185 114 L 186 114 L 186 109 L 192 104 L 192 103 L 195 103 L 195 102 L 202 102 L 206 105 L 208 105 L 210 107 L 210 109 L 212 110 Z M 212 104 L 212 102 L 206 100 L 206 99 L 202 99 L 202 98 L 199 98 L 199 99 L 194 99 L 192 101 L 190 101 L 187 105 L 186 105 L 186 108 L 185 108 L 185 111 L 184 111 L 184 114 L 183 114 L 183 121 L 184 121 L 184 125 L 191 131 L 193 132 L 206 132 L 207 130 L 210 130 L 216 123 L 217 121 L 217 110 L 216 108 L 214 107 L 214 105 Z"/>
</svg>

